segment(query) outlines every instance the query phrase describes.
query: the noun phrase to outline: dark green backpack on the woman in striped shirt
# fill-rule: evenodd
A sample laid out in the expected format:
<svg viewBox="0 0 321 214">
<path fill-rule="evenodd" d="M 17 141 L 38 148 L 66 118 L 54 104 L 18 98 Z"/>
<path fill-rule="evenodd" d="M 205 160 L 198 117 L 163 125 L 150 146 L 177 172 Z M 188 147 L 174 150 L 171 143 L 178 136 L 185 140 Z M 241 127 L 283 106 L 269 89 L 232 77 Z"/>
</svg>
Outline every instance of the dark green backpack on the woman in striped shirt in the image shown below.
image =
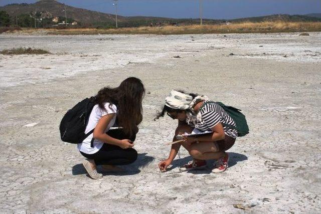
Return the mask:
<svg viewBox="0 0 321 214">
<path fill-rule="evenodd" d="M 200 107 L 199 111 L 201 111 L 201 109 L 208 103 L 216 103 L 216 104 L 218 104 L 219 106 L 221 106 L 230 115 L 230 117 L 232 117 L 232 119 L 236 123 L 236 127 L 232 126 L 232 125 L 228 125 L 228 124 L 223 124 L 223 125 L 226 126 L 226 127 L 232 128 L 232 129 L 236 129 L 239 137 L 243 137 L 243 136 L 245 136 L 245 135 L 247 135 L 249 133 L 249 127 L 248 127 L 248 125 L 246 123 L 245 115 L 240 112 L 241 109 L 237 109 L 237 108 L 234 108 L 232 106 L 226 106 L 221 102 L 209 101 L 209 102 L 204 103 Z"/>
</svg>

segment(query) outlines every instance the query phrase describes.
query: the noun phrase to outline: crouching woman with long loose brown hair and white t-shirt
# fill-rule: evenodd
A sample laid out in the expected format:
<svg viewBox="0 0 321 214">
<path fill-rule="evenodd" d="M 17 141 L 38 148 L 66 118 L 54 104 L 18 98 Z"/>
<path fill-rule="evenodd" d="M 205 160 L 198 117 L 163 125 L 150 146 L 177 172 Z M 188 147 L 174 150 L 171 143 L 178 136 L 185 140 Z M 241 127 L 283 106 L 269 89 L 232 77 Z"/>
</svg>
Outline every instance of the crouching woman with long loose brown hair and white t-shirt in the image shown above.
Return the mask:
<svg viewBox="0 0 321 214">
<path fill-rule="evenodd" d="M 91 178 L 102 178 L 96 165 L 111 168 L 137 159 L 137 152 L 132 147 L 137 125 L 142 121 L 144 93 L 142 82 L 134 77 L 125 79 L 116 88 L 105 87 L 98 91 L 85 133 L 94 131 L 78 144 L 78 150 L 87 158 L 83 165 Z M 110 130 L 116 120 L 122 128 Z"/>
</svg>

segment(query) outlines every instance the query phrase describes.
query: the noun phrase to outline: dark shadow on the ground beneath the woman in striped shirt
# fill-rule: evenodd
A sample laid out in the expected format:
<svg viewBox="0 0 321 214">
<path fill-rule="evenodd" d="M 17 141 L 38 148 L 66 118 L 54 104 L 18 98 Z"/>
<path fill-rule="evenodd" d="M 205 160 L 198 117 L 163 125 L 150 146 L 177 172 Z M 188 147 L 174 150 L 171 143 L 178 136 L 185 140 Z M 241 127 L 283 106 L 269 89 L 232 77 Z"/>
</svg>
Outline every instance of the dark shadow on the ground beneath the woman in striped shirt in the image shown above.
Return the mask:
<svg viewBox="0 0 321 214">
<path fill-rule="evenodd" d="M 244 160 L 248 159 L 247 156 L 244 154 L 235 153 L 235 152 L 228 152 L 228 154 L 229 154 L 229 168 L 235 166 L 237 164 L 237 162 L 244 161 Z M 180 166 L 188 163 L 190 160 L 192 160 L 191 156 L 187 156 L 187 157 L 180 158 L 180 159 L 175 159 L 172 162 L 173 167 L 170 170 L 180 167 Z M 202 169 L 202 170 L 189 171 L 189 173 L 209 174 L 209 173 L 211 173 L 211 170 L 213 168 L 213 164 L 214 164 L 214 160 L 208 160 L 207 161 L 207 168 Z"/>
</svg>

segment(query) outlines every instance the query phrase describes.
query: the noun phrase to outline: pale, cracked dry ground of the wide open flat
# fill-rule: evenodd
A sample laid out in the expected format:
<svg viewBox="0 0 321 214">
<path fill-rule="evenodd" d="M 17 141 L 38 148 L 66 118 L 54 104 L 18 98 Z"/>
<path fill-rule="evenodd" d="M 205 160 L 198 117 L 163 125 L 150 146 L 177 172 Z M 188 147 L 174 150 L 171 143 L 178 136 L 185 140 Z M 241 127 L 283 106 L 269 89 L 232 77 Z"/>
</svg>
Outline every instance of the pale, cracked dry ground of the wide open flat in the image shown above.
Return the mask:
<svg viewBox="0 0 321 214">
<path fill-rule="evenodd" d="M 0 35 L 0 50 L 52 53 L 0 55 L 0 212 L 320 213 L 321 33 L 309 35 Z M 60 120 L 130 76 L 147 92 L 138 159 L 90 179 Z M 158 170 L 177 122 L 153 118 L 172 89 L 243 110 L 250 134 L 224 173 L 211 173 L 213 161 L 179 172 L 191 160 L 183 148 L 172 170 Z"/>
</svg>

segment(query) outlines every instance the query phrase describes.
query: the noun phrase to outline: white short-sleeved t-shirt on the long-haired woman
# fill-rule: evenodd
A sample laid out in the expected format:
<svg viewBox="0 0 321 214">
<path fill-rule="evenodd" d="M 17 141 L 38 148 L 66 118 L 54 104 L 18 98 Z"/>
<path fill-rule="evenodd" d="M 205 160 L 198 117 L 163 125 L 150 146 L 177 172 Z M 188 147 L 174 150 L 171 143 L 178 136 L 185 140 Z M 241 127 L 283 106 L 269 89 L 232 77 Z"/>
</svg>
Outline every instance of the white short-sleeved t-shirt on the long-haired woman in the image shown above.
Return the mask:
<svg viewBox="0 0 321 214">
<path fill-rule="evenodd" d="M 93 107 L 93 109 L 90 113 L 90 116 L 89 116 L 89 120 L 88 120 L 88 124 L 86 126 L 85 133 L 88 133 L 92 129 L 94 129 L 98 123 L 98 120 L 107 114 L 115 114 L 115 115 L 111 119 L 111 121 L 109 122 L 105 132 L 107 132 L 110 129 L 110 127 L 112 127 L 114 125 L 114 123 L 116 121 L 117 107 L 114 104 L 111 104 L 110 106 L 109 105 L 110 105 L 110 103 L 104 104 L 106 111 L 99 108 L 98 104 L 96 104 Z M 91 144 L 92 137 L 93 137 L 93 133 L 90 134 L 86 139 L 84 139 L 82 141 L 82 143 L 78 143 L 78 145 L 77 145 L 78 150 L 81 152 L 84 152 L 86 154 L 94 154 L 97 151 L 99 151 L 99 149 L 103 146 L 104 143 L 100 140 L 95 139 L 93 142 L 94 147 L 91 148 L 90 144 Z"/>
</svg>

